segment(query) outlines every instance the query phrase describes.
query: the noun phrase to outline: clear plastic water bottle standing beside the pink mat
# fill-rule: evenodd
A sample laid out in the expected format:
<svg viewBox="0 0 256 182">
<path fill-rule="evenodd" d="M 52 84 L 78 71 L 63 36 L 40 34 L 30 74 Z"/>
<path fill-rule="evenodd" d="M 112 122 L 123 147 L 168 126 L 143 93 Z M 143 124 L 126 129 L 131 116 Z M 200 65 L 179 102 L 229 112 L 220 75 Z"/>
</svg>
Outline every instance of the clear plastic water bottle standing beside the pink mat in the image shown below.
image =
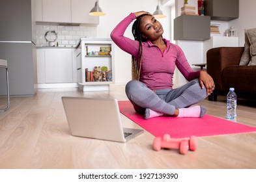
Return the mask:
<svg viewBox="0 0 256 182">
<path fill-rule="evenodd" d="M 227 94 L 227 119 L 235 120 L 236 118 L 236 93 L 235 88 L 229 88 Z"/>
</svg>

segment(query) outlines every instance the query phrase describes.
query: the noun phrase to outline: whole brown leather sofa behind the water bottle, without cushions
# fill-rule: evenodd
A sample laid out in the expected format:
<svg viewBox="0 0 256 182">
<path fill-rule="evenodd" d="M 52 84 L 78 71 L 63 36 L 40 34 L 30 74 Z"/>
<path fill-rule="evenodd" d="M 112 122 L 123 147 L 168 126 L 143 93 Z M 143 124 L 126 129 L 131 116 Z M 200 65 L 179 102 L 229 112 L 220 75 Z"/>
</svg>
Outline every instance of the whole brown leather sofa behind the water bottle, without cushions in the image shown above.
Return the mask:
<svg viewBox="0 0 256 182">
<path fill-rule="evenodd" d="M 256 66 L 240 66 L 244 47 L 215 47 L 206 53 L 206 70 L 215 83 L 208 97 L 216 101 L 217 95 L 226 96 L 230 87 L 238 98 L 256 99 Z"/>
</svg>

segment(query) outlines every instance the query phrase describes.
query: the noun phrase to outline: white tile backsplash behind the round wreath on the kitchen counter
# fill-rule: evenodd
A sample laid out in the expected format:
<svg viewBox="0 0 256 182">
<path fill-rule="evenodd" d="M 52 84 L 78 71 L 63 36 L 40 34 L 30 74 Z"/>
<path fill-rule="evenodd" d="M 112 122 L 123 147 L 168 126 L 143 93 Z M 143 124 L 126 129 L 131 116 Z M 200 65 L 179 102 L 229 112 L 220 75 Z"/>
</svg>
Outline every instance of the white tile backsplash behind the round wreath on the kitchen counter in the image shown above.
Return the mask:
<svg viewBox="0 0 256 182">
<path fill-rule="evenodd" d="M 96 37 L 97 27 L 96 25 L 80 25 L 80 26 L 66 26 L 66 25 L 36 25 L 36 45 L 44 46 L 48 45 L 44 34 L 47 31 L 57 32 L 57 42 L 59 46 L 74 47 L 78 44 L 81 37 Z"/>
</svg>

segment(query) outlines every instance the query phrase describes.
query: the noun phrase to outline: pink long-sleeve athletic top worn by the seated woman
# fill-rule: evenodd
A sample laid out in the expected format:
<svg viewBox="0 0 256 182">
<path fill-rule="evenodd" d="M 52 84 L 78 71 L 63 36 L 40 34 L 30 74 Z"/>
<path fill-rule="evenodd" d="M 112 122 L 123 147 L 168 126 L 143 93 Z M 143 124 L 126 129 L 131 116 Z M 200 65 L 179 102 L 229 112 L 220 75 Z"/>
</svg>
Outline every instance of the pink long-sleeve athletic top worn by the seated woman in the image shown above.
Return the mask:
<svg viewBox="0 0 256 182">
<path fill-rule="evenodd" d="M 130 53 L 136 59 L 139 57 L 139 42 L 124 36 L 128 25 L 136 19 L 134 13 L 124 18 L 111 32 L 111 39 L 123 51 Z M 192 81 L 199 77 L 200 71 L 194 72 L 188 64 L 182 49 L 163 38 L 166 48 L 161 49 L 149 40 L 142 43 L 142 63 L 140 81 L 151 90 L 173 88 L 173 74 L 175 66 L 186 80 Z"/>
</svg>

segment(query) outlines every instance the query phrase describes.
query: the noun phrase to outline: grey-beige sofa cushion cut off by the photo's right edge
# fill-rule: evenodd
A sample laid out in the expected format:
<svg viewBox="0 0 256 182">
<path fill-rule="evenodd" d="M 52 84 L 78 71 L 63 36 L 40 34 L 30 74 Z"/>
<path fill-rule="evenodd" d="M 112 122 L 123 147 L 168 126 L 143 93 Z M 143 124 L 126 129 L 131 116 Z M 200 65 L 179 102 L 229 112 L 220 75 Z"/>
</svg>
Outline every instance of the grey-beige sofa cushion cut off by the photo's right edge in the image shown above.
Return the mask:
<svg viewBox="0 0 256 182">
<path fill-rule="evenodd" d="M 249 62 L 249 66 L 256 65 L 256 29 L 248 29 L 247 31 L 248 39 L 249 39 L 249 50 L 251 53 L 251 60 Z"/>
</svg>

